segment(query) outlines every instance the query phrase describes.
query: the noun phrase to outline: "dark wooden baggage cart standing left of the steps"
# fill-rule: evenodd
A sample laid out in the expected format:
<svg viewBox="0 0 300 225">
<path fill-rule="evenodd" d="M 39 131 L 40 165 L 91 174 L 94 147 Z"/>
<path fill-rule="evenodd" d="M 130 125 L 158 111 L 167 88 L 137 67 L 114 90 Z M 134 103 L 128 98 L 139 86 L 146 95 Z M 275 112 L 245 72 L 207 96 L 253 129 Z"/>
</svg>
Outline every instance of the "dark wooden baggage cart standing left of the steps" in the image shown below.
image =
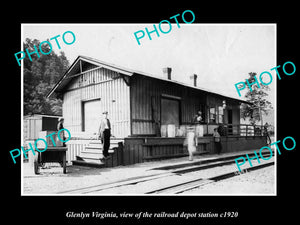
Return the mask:
<svg viewBox="0 0 300 225">
<path fill-rule="evenodd" d="M 63 173 L 67 173 L 66 152 L 67 147 L 48 147 L 44 152 L 35 151 L 34 173 L 39 174 L 40 167 L 47 162 L 58 162 L 63 167 Z"/>
</svg>

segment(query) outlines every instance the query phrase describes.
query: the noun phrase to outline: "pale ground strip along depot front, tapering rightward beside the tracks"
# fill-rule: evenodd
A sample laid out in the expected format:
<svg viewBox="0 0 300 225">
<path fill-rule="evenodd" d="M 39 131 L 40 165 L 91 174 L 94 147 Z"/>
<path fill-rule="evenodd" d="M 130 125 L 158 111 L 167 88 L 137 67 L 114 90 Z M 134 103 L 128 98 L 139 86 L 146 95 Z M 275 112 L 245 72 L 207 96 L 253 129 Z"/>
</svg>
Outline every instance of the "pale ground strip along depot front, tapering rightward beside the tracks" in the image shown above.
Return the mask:
<svg viewBox="0 0 300 225">
<path fill-rule="evenodd" d="M 138 163 L 113 168 L 91 168 L 78 165 L 67 166 L 67 173 L 61 172 L 60 165 L 47 165 L 41 168 L 39 175 L 32 173 L 28 163 L 23 163 L 23 195 L 64 195 L 70 190 L 77 190 L 93 185 L 111 184 L 139 177 L 157 175 L 167 170 L 193 165 L 208 164 L 222 160 L 234 160 L 246 154 L 258 153 L 259 149 L 240 152 L 197 155 L 193 161 L 188 157 Z"/>
</svg>

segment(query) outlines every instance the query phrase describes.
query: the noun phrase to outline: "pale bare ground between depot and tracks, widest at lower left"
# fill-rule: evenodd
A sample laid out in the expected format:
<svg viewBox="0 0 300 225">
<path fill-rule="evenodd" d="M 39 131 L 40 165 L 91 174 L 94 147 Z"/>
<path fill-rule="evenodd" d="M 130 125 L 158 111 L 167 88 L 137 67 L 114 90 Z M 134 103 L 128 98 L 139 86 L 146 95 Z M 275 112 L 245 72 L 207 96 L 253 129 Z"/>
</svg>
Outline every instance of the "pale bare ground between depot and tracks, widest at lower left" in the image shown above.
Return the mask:
<svg viewBox="0 0 300 225">
<path fill-rule="evenodd" d="M 197 157 L 195 159 L 197 160 Z M 187 157 L 113 168 L 92 168 L 71 165 L 67 167 L 67 174 L 62 173 L 62 168 L 58 164 L 51 163 L 49 165 L 46 164 L 45 169 L 40 169 L 41 173 L 39 175 L 33 174 L 33 168 L 30 167 L 29 163 L 23 163 L 23 194 L 61 194 L 61 192 L 77 188 L 116 182 L 146 174 L 158 174 L 162 171 L 150 169 L 186 162 L 188 162 Z"/>
</svg>

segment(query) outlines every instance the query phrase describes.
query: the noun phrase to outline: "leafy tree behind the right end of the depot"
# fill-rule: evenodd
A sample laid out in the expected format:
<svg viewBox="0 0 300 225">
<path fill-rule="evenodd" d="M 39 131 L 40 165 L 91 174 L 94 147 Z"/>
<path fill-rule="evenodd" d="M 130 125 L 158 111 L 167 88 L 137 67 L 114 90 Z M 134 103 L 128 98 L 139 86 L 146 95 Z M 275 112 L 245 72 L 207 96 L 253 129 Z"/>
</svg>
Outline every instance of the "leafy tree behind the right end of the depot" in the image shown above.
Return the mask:
<svg viewBox="0 0 300 225">
<path fill-rule="evenodd" d="M 254 76 L 256 76 L 256 73 L 249 73 L 249 83 L 255 82 Z M 271 102 L 266 100 L 266 97 L 268 96 L 268 93 L 266 91 L 269 91 L 270 88 L 262 84 L 260 84 L 260 88 L 257 85 L 252 85 L 252 91 L 250 91 L 249 86 L 246 85 L 246 87 L 247 92 L 245 94 L 245 98 L 252 104 L 242 104 L 241 117 L 244 120 L 248 118 L 250 123 L 252 125 L 255 125 L 258 121 L 261 120 L 262 113 L 268 115 L 268 111 L 270 109 L 273 109 Z"/>
</svg>

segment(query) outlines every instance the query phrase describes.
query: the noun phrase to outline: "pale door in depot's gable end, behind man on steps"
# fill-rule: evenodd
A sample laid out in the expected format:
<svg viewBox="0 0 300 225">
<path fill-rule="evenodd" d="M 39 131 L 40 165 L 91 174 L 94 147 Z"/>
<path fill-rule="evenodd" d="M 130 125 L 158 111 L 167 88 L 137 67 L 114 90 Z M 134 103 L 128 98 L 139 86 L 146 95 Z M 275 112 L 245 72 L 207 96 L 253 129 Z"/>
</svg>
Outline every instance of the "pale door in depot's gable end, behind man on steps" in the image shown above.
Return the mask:
<svg viewBox="0 0 300 225">
<path fill-rule="evenodd" d="M 82 131 L 98 133 L 102 117 L 100 99 L 82 102 Z"/>
</svg>

